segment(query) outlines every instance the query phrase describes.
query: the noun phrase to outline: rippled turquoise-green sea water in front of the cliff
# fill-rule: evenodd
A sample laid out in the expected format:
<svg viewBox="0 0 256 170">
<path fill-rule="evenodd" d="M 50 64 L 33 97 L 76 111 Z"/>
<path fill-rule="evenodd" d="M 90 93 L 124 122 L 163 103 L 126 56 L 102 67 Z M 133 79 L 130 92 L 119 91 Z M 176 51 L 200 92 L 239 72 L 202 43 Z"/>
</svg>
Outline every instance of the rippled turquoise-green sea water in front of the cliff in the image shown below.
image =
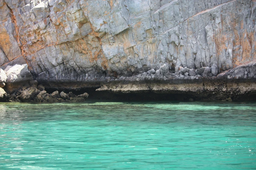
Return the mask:
<svg viewBox="0 0 256 170">
<path fill-rule="evenodd" d="M 0 169 L 256 169 L 255 106 L 0 103 Z"/>
</svg>

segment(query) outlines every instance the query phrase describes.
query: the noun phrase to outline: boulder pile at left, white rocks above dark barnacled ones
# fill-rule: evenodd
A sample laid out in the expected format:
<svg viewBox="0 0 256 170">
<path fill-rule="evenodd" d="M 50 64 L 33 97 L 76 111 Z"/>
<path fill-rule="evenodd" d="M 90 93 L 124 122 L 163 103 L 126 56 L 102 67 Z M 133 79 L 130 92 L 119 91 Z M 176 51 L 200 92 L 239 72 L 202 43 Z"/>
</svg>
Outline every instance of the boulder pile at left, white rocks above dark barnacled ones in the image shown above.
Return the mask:
<svg viewBox="0 0 256 170">
<path fill-rule="evenodd" d="M 32 78 L 27 64 L 0 69 L 0 102 L 83 102 L 88 96 L 88 93 L 75 95 L 63 91 L 47 93 L 44 86 Z"/>
</svg>

